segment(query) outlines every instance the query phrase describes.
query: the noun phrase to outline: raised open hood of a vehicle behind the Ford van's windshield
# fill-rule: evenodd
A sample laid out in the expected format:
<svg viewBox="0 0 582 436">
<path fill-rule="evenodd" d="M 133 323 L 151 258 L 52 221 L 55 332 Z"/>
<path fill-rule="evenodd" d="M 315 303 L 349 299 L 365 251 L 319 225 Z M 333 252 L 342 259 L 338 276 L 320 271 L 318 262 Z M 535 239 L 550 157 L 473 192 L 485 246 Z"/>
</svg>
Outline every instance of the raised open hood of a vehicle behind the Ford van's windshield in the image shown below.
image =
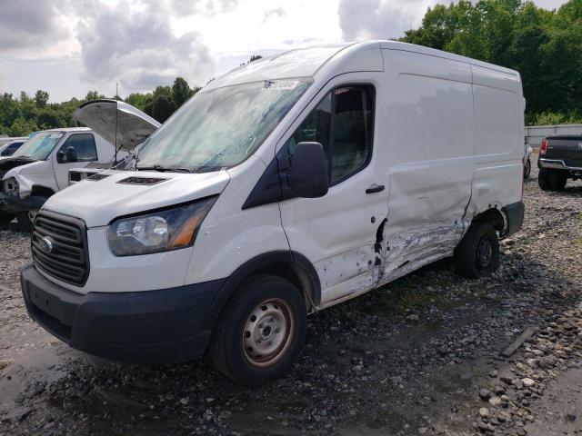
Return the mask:
<svg viewBox="0 0 582 436">
<path fill-rule="evenodd" d="M 131 104 L 117 100 L 94 100 L 81 104 L 73 113 L 73 118 L 125 152 L 132 152 L 162 125 Z"/>
</svg>

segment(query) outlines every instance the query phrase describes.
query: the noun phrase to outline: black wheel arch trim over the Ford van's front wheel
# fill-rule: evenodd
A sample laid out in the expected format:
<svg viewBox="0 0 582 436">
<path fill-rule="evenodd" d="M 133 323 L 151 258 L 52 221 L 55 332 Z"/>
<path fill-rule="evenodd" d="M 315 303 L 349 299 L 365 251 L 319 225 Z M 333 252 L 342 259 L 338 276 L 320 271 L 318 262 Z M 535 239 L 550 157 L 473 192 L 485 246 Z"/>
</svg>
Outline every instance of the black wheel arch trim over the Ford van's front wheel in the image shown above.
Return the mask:
<svg viewBox="0 0 582 436">
<path fill-rule="evenodd" d="M 236 268 L 235 272 L 226 277 L 225 282 L 223 282 L 212 302 L 212 305 L 210 306 L 210 311 L 206 315 L 206 328 L 212 329 L 214 327 L 220 313 L 226 305 L 226 302 L 228 302 L 228 300 L 235 294 L 236 288 L 238 288 L 247 277 L 255 272 L 268 268 L 270 265 L 276 265 L 277 263 L 284 263 L 292 267 L 294 270 L 298 269 L 300 272 L 304 272 L 306 280 L 309 282 L 311 288 L 310 297 L 312 301 L 316 306 L 321 302 L 321 284 L 319 282 L 319 276 L 317 275 L 315 267 L 306 256 L 301 253 L 287 250 L 266 252 L 246 261 L 246 263 L 243 263 Z"/>
</svg>

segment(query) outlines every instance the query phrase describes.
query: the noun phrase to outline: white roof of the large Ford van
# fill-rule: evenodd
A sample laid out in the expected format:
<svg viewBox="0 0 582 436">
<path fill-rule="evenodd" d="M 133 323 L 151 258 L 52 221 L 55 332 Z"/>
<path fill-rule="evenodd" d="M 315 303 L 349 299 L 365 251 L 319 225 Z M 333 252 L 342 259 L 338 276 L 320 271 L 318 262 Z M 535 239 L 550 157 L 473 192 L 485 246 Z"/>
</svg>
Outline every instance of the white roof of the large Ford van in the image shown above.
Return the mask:
<svg viewBox="0 0 582 436">
<path fill-rule="evenodd" d="M 254 62 L 241 65 L 225 75 L 213 80 L 203 89 L 208 91 L 231 84 L 246 84 L 263 80 L 288 79 L 296 77 L 313 77 L 325 65 L 334 62 L 337 74 L 354 71 L 384 71 L 379 49 L 400 50 L 412 53 L 452 59 L 465 64 L 473 64 L 506 74 L 517 75 L 516 71 L 487 64 L 458 54 L 452 54 L 427 48 L 421 45 L 400 43 L 397 41 L 366 41 L 359 43 L 341 43 L 332 45 L 315 45 L 297 48 L 285 53 L 275 54 Z M 376 51 L 376 56 L 370 56 Z"/>
</svg>

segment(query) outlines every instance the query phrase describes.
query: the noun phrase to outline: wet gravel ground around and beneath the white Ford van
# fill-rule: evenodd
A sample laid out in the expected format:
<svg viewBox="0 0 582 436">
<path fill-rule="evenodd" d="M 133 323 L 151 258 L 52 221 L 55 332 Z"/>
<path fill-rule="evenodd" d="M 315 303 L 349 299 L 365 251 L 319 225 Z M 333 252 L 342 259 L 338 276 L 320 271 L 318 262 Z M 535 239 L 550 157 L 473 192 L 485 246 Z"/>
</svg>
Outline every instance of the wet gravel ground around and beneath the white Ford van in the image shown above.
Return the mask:
<svg viewBox="0 0 582 436">
<path fill-rule="evenodd" d="M 0 227 L 0 434 L 582 434 L 582 183 L 536 177 L 493 277 L 440 262 L 317 313 L 293 370 L 252 390 L 206 360 L 96 365 L 58 342 L 25 314 L 28 236 Z"/>
</svg>

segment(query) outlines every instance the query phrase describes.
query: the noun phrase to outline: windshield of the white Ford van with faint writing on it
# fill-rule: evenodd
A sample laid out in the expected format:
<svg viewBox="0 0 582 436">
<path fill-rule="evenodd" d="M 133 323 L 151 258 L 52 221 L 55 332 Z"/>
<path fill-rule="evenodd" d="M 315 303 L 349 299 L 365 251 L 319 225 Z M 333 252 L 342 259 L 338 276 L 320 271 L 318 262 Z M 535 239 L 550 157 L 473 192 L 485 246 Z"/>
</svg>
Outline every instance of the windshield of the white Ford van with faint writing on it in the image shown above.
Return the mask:
<svg viewBox="0 0 582 436">
<path fill-rule="evenodd" d="M 217 171 L 255 153 L 310 79 L 236 84 L 192 97 L 143 144 L 137 169 Z"/>
</svg>

